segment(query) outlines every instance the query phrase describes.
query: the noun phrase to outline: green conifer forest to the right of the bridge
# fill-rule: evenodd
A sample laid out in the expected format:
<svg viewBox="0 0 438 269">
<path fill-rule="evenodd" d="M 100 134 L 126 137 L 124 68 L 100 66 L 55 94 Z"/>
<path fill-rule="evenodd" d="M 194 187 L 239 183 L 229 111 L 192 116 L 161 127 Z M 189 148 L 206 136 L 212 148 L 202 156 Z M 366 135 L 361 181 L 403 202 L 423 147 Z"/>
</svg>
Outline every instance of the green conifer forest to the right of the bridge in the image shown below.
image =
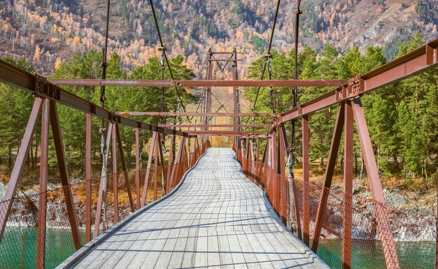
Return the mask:
<svg viewBox="0 0 438 269">
<path fill-rule="evenodd" d="M 402 56 L 425 43 L 417 31 L 411 41 L 401 43 L 397 56 Z M 264 57 L 248 68 L 248 79 L 260 79 Z M 271 58 L 272 79 L 293 78 L 294 52 L 273 53 Z M 372 71 L 386 64 L 386 55 L 380 47 L 369 46 L 364 53 L 358 47 L 340 54 L 332 45 L 326 45 L 322 54 L 306 47 L 298 54 L 299 78 L 346 79 Z M 299 89 L 299 103 L 304 103 L 327 92 L 327 88 Z M 248 101 L 255 99 L 257 88 L 245 89 Z M 290 109 L 290 88 L 275 88 L 274 109 L 284 112 Z M 374 143 L 374 153 L 383 177 L 393 177 L 400 184 L 409 185 L 414 179 L 425 186 L 435 186 L 438 166 L 438 73 L 437 69 L 416 75 L 394 85 L 383 87 L 372 94 L 362 96 L 369 133 Z M 257 112 L 271 112 L 269 90 L 260 91 Z M 337 107 L 327 108 L 310 117 L 310 156 L 324 164 L 328 156 Z M 260 122 L 260 119 L 258 119 Z M 257 123 L 257 119 L 255 119 Z M 298 123 L 297 126 L 301 124 Z M 289 129 L 288 129 L 289 130 Z M 290 134 L 288 134 L 290 136 Z M 295 152 L 301 155 L 300 134 L 295 139 Z M 341 144 L 342 145 L 342 144 Z M 355 137 L 355 174 L 360 173 L 360 147 Z M 342 158 L 342 150 L 338 159 Z"/>
</svg>

